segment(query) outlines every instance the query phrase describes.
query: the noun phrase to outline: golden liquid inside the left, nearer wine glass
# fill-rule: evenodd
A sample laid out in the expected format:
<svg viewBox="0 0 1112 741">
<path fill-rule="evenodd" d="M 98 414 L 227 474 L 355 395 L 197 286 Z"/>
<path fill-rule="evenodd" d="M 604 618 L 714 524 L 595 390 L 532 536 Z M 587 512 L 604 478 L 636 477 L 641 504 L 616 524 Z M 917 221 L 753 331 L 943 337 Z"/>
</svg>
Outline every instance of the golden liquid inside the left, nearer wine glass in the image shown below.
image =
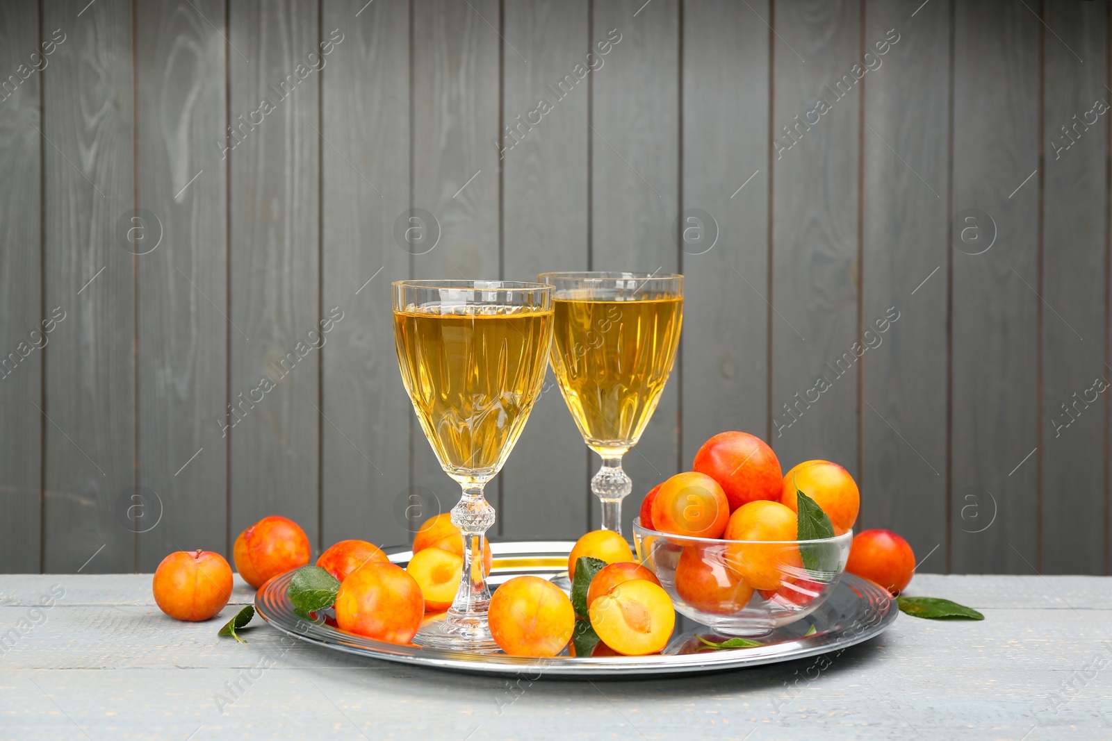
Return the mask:
<svg viewBox="0 0 1112 741">
<path fill-rule="evenodd" d="M 401 380 L 448 475 L 486 480 L 505 463 L 540 395 L 552 322 L 515 307 L 394 312 Z"/>
</svg>

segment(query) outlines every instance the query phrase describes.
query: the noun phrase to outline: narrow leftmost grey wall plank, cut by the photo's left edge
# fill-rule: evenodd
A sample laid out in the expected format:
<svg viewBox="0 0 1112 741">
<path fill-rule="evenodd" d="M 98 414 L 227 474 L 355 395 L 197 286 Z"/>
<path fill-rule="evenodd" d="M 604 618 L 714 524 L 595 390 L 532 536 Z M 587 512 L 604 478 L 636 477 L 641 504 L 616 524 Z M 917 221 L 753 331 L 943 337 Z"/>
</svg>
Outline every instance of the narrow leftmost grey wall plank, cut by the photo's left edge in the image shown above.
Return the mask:
<svg viewBox="0 0 1112 741">
<path fill-rule="evenodd" d="M 42 304 L 42 140 L 39 93 L 51 54 L 36 43 L 39 13 L 0 6 L 0 571 L 40 570 L 42 532 L 42 357 L 63 331 Z M 53 50 L 52 47 L 48 47 Z M 48 144 L 49 146 L 49 144 Z M 72 303 L 72 302 L 71 302 Z M 51 307 L 53 309 L 53 307 Z M 51 323 L 41 324 L 43 320 Z M 63 320 L 64 321 L 64 320 Z M 66 327 L 64 329 L 69 329 Z"/>
</svg>

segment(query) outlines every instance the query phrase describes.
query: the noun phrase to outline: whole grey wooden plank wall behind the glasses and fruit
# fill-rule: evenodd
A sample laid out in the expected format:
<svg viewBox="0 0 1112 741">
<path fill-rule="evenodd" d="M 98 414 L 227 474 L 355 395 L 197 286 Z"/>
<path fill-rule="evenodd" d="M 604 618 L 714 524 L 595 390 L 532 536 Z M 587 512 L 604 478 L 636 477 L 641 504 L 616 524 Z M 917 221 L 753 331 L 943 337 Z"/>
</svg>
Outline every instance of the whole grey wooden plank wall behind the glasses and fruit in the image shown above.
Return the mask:
<svg viewBox="0 0 1112 741">
<path fill-rule="evenodd" d="M 924 571 L 1106 573 L 1109 38 L 1073 0 L 0 1 L 0 571 L 269 513 L 405 542 L 458 494 L 390 281 L 632 269 L 687 296 L 626 522 L 742 429 Z M 596 527 L 597 464 L 546 390 L 497 535 Z"/>
</svg>

